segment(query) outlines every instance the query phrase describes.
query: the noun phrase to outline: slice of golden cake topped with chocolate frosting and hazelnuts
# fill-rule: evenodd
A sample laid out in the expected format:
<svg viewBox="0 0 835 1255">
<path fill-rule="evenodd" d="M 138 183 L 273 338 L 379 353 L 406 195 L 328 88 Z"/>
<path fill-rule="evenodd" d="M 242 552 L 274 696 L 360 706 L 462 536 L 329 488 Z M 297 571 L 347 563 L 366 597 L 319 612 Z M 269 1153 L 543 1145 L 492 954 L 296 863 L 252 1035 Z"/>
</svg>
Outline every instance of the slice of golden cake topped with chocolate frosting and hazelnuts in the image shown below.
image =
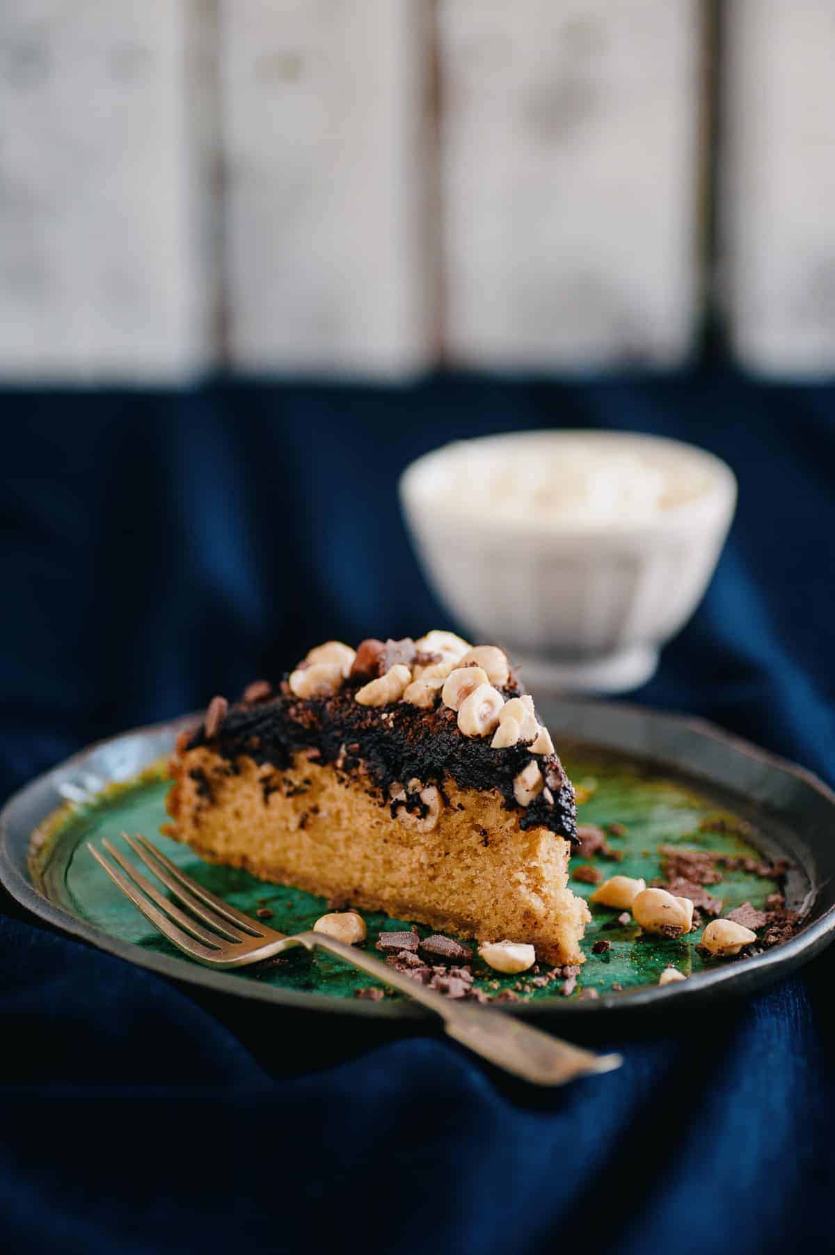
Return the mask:
<svg viewBox="0 0 835 1255">
<path fill-rule="evenodd" d="M 277 690 L 214 698 L 181 737 L 163 831 L 213 862 L 582 963 L 574 792 L 494 645 L 312 649 Z"/>
</svg>

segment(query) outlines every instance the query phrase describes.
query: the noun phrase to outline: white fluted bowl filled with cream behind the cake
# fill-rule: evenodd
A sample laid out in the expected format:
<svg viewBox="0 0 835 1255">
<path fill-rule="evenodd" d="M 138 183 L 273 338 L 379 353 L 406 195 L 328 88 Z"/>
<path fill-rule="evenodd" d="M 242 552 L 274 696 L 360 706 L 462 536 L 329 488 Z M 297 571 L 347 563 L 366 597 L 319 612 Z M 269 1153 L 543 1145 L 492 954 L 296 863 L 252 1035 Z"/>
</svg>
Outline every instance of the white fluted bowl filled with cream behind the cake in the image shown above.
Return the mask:
<svg viewBox="0 0 835 1255">
<path fill-rule="evenodd" d="M 617 692 L 656 669 L 713 572 L 736 481 L 695 446 L 627 432 L 460 441 L 400 482 L 430 584 L 529 684 Z"/>
</svg>

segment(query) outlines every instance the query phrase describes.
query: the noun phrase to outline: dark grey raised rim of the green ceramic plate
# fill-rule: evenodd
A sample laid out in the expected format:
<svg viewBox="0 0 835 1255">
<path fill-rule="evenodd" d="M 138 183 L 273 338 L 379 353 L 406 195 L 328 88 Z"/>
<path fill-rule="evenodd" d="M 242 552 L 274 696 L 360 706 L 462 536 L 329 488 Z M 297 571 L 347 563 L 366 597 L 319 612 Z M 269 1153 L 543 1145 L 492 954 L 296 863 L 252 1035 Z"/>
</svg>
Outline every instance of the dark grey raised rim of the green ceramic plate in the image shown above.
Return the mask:
<svg viewBox="0 0 835 1255">
<path fill-rule="evenodd" d="M 661 725 L 672 724 L 693 732 L 700 737 L 707 737 L 715 742 L 720 742 L 721 744 L 731 747 L 736 753 L 795 777 L 807 788 L 819 793 L 832 807 L 835 818 L 835 791 L 812 771 L 800 766 L 799 763 L 794 763 L 787 758 L 782 758 L 771 750 L 762 749 L 760 745 L 754 744 L 754 742 L 750 742 L 743 737 L 738 737 L 736 733 L 727 732 L 718 724 L 715 724 L 700 715 L 685 714 L 673 710 L 659 710 L 652 707 L 642 707 L 637 703 L 627 702 L 616 703 L 593 699 L 580 700 L 577 698 L 559 698 L 559 700 L 560 704 L 565 707 L 573 705 L 577 709 L 582 708 L 588 710 L 589 708 L 594 708 L 602 715 L 607 712 L 632 713 L 636 717 L 649 719 L 653 723 L 659 723 Z M 328 994 L 320 993 L 303 993 L 301 990 L 285 989 L 280 985 L 260 985 L 257 981 L 241 980 L 241 978 L 234 973 L 213 971 L 211 968 L 192 964 L 187 959 L 181 959 L 174 955 L 158 954 L 153 950 L 144 950 L 133 941 L 123 941 L 120 937 L 113 936 L 104 929 L 99 929 L 94 924 L 89 924 L 87 920 L 65 911 L 63 907 L 58 906 L 49 897 L 46 897 L 45 894 L 41 894 L 31 884 L 28 876 L 24 875 L 10 850 L 10 823 L 13 809 L 24 802 L 29 793 L 35 792 L 54 776 L 84 766 L 87 759 L 89 759 L 97 750 L 107 745 L 117 744 L 122 740 L 127 740 L 128 738 L 142 738 L 152 734 L 160 735 L 168 732 L 176 735 L 181 728 L 188 727 L 199 719 L 201 714 L 202 712 L 189 713 L 179 715 L 174 719 L 164 719 L 158 723 L 130 728 L 112 737 L 99 738 L 89 745 L 76 750 L 74 754 L 70 754 L 61 762 L 48 768 L 45 772 L 39 773 L 21 788 L 16 789 L 5 801 L 3 809 L 0 809 L 0 882 L 4 885 L 6 891 L 13 899 L 15 899 L 16 902 L 50 926 L 56 927 L 73 937 L 87 941 L 97 946 L 99 950 L 114 954 L 135 966 L 155 971 L 176 983 L 202 985 L 218 993 L 232 994 L 237 998 L 256 999 L 257 1001 L 272 1003 L 273 1005 L 283 1005 L 298 1010 L 330 1012 L 386 1020 L 429 1020 L 431 1013 L 419 1004 L 409 1000 L 389 1001 L 382 999 L 380 1001 L 371 1001 L 361 998 L 349 999 L 335 998 Z M 589 744 L 592 743 L 589 742 Z M 678 763 L 668 759 L 666 761 L 661 756 L 642 754 L 636 750 L 626 749 L 624 752 L 631 753 L 636 758 L 652 758 L 653 762 L 658 762 L 662 766 L 667 763 L 675 772 L 681 772 L 682 769 Z M 742 791 L 737 792 L 740 792 L 741 796 L 745 796 Z M 785 968 L 787 973 L 799 966 L 801 963 L 815 958 L 816 954 L 830 944 L 834 932 L 835 905 L 827 907 L 820 919 L 815 920 L 789 941 L 784 941 L 774 949 L 766 950 L 764 954 L 747 959 L 743 965 L 738 963 L 721 965 L 710 971 L 702 971 L 690 976 L 686 981 L 671 981 L 668 985 L 639 986 L 623 995 L 609 993 L 603 994 L 597 999 L 572 999 L 562 1004 L 558 1001 L 503 1003 L 496 1009 L 500 1009 L 503 1013 L 510 1015 L 543 1018 L 548 1015 L 588 1017 L 592 1014 L 599 1015 L 602 1012 L 626 1013 L 644 1008 L 656 1009 L 662 1005 L 671 1007 L 673 1004 L 678 1007 L 681 1005 L 682 999 L 687 996 L 692 999 L 695 993 L 705 994 L 711 989 L 721 990 L 722 986 L 731 985 L 737 981 L 740 976 L 745 976 L 748 973 L 756 976 L 762 975 L 762 983 L 767 979 L 765 974 L 774 969 Z"/>
</svg>

